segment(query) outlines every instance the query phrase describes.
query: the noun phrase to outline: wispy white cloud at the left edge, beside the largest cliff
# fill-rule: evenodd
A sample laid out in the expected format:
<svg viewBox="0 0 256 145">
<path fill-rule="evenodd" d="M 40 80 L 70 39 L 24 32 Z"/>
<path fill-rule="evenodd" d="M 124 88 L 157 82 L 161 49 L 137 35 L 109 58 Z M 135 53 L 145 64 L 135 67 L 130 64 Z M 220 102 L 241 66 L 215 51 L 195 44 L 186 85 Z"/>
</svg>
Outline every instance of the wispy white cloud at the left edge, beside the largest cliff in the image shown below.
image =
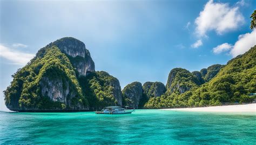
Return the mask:
<svg viewBox="0 0 256 145">
<path fill-rule="evenodd" d="M 24 65 L 28 63 L 33 58 L 33 56 L 35 55 L 12 50 L 0 44 L 0 57 L 3 57 L 4 59 L 9 60 L 14 64 Z"/>
</svg>

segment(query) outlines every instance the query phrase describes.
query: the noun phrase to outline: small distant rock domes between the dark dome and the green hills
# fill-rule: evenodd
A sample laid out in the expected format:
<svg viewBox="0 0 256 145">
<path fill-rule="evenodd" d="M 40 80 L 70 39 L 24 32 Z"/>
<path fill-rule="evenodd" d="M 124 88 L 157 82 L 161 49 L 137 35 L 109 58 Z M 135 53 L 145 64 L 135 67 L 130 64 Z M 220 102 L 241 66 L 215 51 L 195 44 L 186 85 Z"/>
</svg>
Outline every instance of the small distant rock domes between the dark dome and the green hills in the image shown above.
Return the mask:
<svg viewBox="0 0 256 145">
<path fill-rule="evenodd" d="M 165 85 L 161 82 L 146 82 L 143 84 L 143 93 L 147 98 L 160 97 L 165 91 Z"/>
</svg>

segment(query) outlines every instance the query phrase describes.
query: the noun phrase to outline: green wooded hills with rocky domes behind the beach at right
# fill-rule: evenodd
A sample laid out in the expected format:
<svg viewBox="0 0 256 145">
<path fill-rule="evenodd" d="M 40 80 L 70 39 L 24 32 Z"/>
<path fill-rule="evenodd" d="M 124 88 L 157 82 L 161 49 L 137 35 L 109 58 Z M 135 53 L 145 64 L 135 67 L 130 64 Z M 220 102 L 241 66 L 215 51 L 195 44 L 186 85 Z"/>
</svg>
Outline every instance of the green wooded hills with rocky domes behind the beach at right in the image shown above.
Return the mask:
<svg viewBox="0 0 256 145">
<path fill-rule="evenodd" d="M 200 74 L 202 77 L 207 76 L 206 80 L 210 81 L 199 86 L 197 80 L 201 78 Z M 161 97 L 151 97 L 144 108 L 204 107 L 253 102 L 256 96 L 248 94 L 256 92 L 256 45 L 228 61 L 225 66 L 217 64 L 202 69 L 200 74 L 198 71 L 191 74 L 181 68 L 171 70 L 166 84 L 168 90 Z"/>
</svg>

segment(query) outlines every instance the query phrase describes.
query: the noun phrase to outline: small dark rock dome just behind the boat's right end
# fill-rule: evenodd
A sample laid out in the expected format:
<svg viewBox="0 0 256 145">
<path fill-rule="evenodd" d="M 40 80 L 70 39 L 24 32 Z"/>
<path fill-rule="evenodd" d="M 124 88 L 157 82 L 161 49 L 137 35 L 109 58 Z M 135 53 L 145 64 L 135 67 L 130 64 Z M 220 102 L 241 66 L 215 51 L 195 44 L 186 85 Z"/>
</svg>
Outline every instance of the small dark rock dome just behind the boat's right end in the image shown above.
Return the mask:
<svg viewBox="0 0 256 145">
<path fill-rule="evenodd" d="M 131 84 L 128 84 L 123 89 L 123 99 L 125 104 L 129 107 L 138 108 L 140 99 L 142 99 L 143 95 L 143 89 L 142 89 L 142 83 L 139 82 L 133 82 Z"/>
</svg>

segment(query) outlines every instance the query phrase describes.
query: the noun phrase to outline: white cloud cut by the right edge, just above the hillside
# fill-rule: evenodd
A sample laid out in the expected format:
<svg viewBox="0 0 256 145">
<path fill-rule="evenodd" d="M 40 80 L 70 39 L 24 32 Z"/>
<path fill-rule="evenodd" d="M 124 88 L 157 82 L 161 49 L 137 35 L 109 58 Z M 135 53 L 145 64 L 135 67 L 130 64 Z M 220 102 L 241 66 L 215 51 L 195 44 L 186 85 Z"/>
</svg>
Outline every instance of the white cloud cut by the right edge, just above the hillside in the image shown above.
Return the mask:
<svg viewBox="0 0 256 145">
<path fill-rule="evenodd" d="M 256 45 L 256 30 L 254 29 L 251 33 L 239 35 L 238 41 L 235 42 L 233 49 L 231 49 L 231 55 L 233 57 L 244 54 L 251 47 Z"/>
</svg>

